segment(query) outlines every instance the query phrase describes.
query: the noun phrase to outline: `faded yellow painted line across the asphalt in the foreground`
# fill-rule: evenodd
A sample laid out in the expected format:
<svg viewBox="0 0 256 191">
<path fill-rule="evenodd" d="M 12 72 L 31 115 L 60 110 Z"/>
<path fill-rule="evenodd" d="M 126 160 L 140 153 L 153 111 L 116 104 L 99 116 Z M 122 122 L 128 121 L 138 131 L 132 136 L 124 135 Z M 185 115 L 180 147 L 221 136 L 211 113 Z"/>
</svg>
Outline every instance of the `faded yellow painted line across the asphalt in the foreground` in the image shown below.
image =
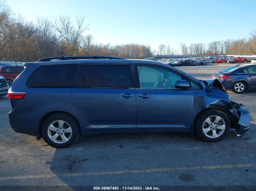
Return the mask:
<svg viewBox="0 0 256 191">
<path fill-rule="evenodd" d="M 255 167 L 256 163 L 251 164 L 234 164 L 234 165 L 215 165 L 215 166 L 199 166 L 199 167 L 178 167 L 178 168 L 153 168 L 145 170 L 117 170 L 117 171 L 102 171 L 102 172 L 87 172 L 87 173 L 65 173 L 65 174 L 39 174 L 39 175 L 21 175 L 13 177 L 0 177 L 0 180 L 18 180 L 18 179 L 32 179 L 32 178 L 52 178 L 52 177 L 76 177 L 76 176 L 94 176 L 106 174 L 125 174 L 125 173 L 151 173 L 163 171 L 182 171 L 182 170 L 212 170 L 212 169 L 230 169 Z"/>
</svg>

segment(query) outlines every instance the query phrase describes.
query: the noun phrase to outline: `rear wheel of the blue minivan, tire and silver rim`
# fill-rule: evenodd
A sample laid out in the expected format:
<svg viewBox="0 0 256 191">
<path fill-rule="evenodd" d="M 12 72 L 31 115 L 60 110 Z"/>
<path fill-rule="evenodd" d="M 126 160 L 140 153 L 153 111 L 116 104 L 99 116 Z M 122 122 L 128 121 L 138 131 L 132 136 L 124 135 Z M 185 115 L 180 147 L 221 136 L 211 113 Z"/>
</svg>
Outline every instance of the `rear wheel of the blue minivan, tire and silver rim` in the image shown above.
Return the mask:
<svg viewBox="0 0 256 191">
<path fill-rule="evenodd" d="M 58 121 L 62 124 L 62 127 L 59 127 L 60 123 Z M 65 130 L 66 132 L 63 133 Z M 54 148 L 69 147 L 73 145 L 79 137 L 78 122 L 66 113 L 53 114 L 44 121 L 42 136 L 45 142 Z M 53 138 L 51 139 L 50 136 Z"/>
</svg>

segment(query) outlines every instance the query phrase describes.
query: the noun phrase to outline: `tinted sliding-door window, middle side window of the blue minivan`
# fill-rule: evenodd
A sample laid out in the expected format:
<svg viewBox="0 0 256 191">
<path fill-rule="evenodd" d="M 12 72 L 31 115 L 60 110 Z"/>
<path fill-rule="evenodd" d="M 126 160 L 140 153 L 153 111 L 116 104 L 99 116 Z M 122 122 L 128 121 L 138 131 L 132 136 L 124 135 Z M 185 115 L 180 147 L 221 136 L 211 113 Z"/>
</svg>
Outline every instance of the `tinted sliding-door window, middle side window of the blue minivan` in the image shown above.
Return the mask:
<svg viewBox="0 0 256 191">
<path fill-rule="evenodd" d="M 131 88 L 131 66 L 83 65 L 82 88 Z"/>
</svg>

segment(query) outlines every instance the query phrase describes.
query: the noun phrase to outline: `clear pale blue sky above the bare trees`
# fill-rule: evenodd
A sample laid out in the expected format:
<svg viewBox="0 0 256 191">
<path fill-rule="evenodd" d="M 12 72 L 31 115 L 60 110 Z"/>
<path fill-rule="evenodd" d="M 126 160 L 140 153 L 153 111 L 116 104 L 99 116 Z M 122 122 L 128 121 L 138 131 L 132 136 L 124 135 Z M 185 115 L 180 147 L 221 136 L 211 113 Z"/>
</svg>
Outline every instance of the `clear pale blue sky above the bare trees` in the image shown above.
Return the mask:
<svg viewBox="0 0 256 191">
<path fill-rule="evenodd" d="M 169 44 L 208 43 L 248 38 L 256 30 L 255 0 L 6 0 L 14 13 L 28 21 L 37 16 L 56 18 L 84 15 L 98 43 Z"/>
</svg>

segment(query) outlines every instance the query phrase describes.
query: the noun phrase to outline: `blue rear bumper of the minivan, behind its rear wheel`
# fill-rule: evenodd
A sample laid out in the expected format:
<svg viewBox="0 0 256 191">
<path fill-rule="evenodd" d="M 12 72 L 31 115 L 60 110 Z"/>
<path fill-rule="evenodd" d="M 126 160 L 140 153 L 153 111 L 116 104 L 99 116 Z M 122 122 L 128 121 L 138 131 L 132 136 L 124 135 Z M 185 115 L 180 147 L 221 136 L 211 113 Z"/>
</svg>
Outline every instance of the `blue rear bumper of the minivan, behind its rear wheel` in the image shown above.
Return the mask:
<svg viewBox="0 0 256 191">
<path fill-rule="evenodd" d="M 34 136 L 38 134 L 38 123 L 42 113 L 32 109 L 11 109 L 8 117 L 15 132 Z"/>
</svg>

